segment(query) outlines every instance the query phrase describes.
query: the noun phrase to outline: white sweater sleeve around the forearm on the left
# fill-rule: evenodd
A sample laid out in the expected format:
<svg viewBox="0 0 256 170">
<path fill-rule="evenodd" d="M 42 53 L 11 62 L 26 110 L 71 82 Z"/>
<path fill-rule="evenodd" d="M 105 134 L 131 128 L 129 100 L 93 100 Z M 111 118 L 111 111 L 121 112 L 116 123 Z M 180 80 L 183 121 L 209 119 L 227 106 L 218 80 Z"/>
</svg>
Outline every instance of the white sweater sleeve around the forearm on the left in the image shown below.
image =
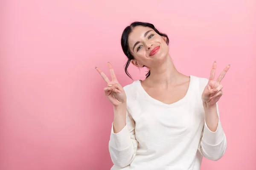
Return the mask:
<svg viewBox="0 0 256 170">
<path fill-rule="evenodd" d="M 135 138 L 135 123 L 131 114 L 126 112 L 126 125 L 119 132 L 113 132 L 113 123 L 109 141 L 109 152 L 114 165 L 126 167 L 135 157 L 138 142 Z"/>
</svg>

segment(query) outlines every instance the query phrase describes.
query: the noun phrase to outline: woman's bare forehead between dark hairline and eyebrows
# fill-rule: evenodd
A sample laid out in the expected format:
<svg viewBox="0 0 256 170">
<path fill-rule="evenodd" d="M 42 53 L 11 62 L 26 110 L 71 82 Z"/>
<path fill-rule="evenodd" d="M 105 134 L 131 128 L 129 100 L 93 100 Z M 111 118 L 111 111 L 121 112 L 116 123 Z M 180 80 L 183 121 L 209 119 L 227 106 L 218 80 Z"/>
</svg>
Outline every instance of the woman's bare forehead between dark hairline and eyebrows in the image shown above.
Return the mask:
<svg viewBox="0 0 256 170">
<path fill-rule="evenodd" d="M 140 41 L 140 39 L 144 38 L 145 32 L 149 30 L 154 31 L 152 28 L 145 27 L 145 26 L 137 26 L 133 28 L 133 30 L 131 31 L 128 37 L 129 46 L 130 47 L 133 46 L 137 41 Z"/>
</svg>

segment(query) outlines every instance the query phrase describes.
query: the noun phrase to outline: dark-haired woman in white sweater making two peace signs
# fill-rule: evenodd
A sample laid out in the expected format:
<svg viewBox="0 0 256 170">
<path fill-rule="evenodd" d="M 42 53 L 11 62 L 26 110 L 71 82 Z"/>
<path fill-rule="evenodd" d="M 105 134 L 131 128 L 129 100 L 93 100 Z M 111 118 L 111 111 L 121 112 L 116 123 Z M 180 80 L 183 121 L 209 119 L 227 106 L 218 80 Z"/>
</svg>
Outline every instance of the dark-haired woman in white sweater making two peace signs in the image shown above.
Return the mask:
<svg viewBox="0 0 256 170">
<path fill-rule="evenodd" d="M 216 62 L 209 79 L 178 72 L 169 55 L 169 39 L 150 23 L 135 22 L 123 31 L 121 44 L 132 63 L 149 69 L 145 80 L 124 88 L 110 63 L 112 81 L 96 67 L 108 87 L 114 119 L 109 141 L 111 170 L 199 170 L 202 157 L 216 161 L 226 150 L 218 100 L 221 80 Z"/>
</svg>

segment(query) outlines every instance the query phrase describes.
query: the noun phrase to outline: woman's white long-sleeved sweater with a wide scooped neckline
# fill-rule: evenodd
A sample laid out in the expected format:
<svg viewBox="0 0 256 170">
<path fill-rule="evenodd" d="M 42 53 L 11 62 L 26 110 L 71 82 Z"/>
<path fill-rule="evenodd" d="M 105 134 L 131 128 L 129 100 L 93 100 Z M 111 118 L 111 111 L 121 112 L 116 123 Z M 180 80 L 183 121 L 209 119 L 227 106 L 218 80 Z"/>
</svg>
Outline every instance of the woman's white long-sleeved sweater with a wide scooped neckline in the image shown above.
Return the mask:
<svg viewBox="0 0 256 170">
<path fill-rule="evenodd" d="M 190 76 L 187 94 L 170 105 L 149 96 L 140 80 L 125 86 L 126 125 L 113 133 L 112 123 L 111 170 L 199 170 L 203 156 L 220 159 L 227 141 L 220 122 L 215 132 L 206 125 L 201 95 L 207 82 Z"/>
</svg>

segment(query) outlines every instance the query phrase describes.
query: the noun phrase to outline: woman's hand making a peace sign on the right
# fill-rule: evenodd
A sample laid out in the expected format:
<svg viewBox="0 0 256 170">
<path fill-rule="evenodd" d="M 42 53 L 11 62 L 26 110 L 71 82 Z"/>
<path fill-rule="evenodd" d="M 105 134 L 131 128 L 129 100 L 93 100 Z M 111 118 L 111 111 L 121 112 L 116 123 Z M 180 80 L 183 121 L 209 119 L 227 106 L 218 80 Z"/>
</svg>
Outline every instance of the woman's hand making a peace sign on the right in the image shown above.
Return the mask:
<svg viewBox="0 0 256 170">
<path fill-rule="evenodd" d="M 223 88 L 223 85 L 221 85 L 220 83 L 229 68 L 230 68 L 230 65 L 227 65 L 219 75 L 218 79 L 215 81 L 214 77 L 215 77 L 215 70 L 216 70 L 216 62 L 213 63 L 208 84 L 204 88 L 204 91 L 202 94 L 202 100 L 203 102 L 206 102 L 207 106 L 215 105 L 216 102 L 218 102 L 218 100 L 221 98 L 222 96 L 221 89 Z"/>
</svg>

